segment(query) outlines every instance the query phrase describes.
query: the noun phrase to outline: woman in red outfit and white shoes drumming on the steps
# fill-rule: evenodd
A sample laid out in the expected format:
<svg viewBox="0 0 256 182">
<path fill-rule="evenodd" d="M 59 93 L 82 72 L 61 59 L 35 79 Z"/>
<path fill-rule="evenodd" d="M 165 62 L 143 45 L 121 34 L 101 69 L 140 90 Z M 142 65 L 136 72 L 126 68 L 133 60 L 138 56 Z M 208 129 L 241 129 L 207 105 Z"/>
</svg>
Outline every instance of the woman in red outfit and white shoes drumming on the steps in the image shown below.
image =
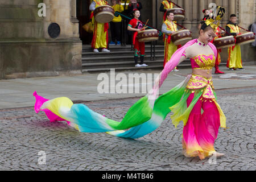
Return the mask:
<svg viewBox="0 0 256 182">
<path fill-rule="evenodd" d="M 134 9 L 133 11 L 134 18 L 130 20 L 127 30 L 133 31 L 133 44 L 134 44 L 134 62 L 135 67 L 147 67 L 148 65 L 144 64 L 144 56 L 145 56 L 145 43 L 139 42 L 137 35 L 138 32 L 143 28 L 143 23 L 139 20 L 139 16 L 141 12 L 138 9 Z M 140 56 L 141 63 L 138 64 L 138 55 Z"/>
</svg>

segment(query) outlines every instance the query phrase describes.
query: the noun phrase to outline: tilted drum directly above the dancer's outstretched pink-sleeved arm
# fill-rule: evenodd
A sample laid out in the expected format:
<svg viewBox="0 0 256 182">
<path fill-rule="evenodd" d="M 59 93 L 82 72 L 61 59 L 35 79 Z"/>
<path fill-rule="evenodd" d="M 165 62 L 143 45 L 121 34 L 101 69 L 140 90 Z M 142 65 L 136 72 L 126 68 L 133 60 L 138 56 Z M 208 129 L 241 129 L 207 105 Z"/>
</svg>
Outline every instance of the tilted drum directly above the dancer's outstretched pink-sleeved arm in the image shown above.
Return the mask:
<svg viewBox="0 0 256 182">
<path fill-rule="evenodd" d="M 171 40 L 176 46 L 179 44 L 185 44 L 191 39 L 192 36 L 189 30 L 179 30 L 171 35 Z"/>
</svg>

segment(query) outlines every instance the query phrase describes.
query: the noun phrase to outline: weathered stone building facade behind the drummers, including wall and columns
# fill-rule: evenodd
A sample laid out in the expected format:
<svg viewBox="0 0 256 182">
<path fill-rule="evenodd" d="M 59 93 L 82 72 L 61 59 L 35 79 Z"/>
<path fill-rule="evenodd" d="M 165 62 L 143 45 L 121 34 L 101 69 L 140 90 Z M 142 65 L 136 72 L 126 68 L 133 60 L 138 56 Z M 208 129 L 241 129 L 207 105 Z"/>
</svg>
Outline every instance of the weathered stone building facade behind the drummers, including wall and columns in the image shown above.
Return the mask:
<svg viewBox="0 0 256 182">
<path fill-rule="evenodd" d="M 0 79 L 81 74 L 82 42 L 89 44 L 91 40 L 90 34 L 86 34 L 81 26 L 89 20 L 90 1 L 1 0 Z M 162 0 L 139 2 L 143 6 L 142 20 L 146 22 L 150 19 L 149 25 L 160 30 L 163 13 L 159 8 Z M 225 27 L 230 14 L 236 14 L 238 23 L 246 29 L 256 20 L 255 0 L 173 2 L 185 10 L 185 19 L 178 23 L 191 30 L 193 38 L 198 36 L 197 26 L 203 18 L 202 10 L 207 9 L 211 2 L 226 9 L 222 27 Z M 38 14 L 42 9 L 38 6 L 40 3 L 46 5 L 46 16 Z M 159 44 L 163 44 L 161 40 Z M 255 47 L 246 44 L 241 50 L 243 63 L 255 64 Z M 227 52 L 226 48 L 222 49 L 223 62 L 227 59 Z"/>
</svg>

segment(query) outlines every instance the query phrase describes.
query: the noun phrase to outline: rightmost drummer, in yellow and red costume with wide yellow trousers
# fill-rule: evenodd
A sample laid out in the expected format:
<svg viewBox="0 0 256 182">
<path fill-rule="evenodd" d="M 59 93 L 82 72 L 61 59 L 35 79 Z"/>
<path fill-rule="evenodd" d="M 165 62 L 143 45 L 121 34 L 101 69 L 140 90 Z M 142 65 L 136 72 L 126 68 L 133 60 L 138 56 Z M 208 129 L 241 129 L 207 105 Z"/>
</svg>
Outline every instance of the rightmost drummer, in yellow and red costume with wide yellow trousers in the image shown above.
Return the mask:
<svg viewBox="0 0 256 182">
<path fill-rule="evenodd" d="M 226 24 L 226 32 L 228 35 L 237 36 L 240 35 L 240 28 L 237 25 L 237 16 L 235 14 L 230 15 L 230 20 Z M 236 45 L 228 48 L 228 62 L 226 67 L 229 68 L 229 71 L 245 70 L 242 66 L 242 57 L 241 57 L 241 48 Z"/>
</svg>

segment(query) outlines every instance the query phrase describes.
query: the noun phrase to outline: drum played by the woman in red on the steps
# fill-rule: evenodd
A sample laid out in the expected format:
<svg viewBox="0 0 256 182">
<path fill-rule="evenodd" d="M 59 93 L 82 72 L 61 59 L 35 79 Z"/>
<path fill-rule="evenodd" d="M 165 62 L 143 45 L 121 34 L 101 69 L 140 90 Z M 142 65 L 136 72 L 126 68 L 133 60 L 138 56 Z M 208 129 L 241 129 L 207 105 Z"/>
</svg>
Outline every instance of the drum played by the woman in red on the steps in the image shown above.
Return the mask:
<svg viewBox="0 0 256 182">
<path fill-rule="evenodd" d="M 158 30 L 149 29 L 138 32 L 137 38 L 139 42 L 151 42 L 158 40 Z"/>
</svg>

